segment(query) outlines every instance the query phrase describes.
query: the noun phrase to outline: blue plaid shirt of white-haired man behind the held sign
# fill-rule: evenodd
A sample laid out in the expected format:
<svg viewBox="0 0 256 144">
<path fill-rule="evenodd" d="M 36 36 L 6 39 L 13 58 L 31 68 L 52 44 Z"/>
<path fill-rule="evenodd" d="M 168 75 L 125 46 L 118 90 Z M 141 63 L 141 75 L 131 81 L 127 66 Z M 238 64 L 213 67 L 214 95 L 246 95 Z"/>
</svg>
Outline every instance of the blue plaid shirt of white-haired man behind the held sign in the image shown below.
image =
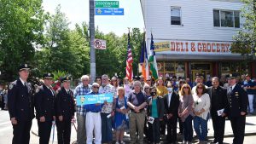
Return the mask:
<svg viewBox="0 0 256 144">
<path fill-rule="evenodd" d="M 83 84 L 79 84 L 74 90 L 74 97 L 77 95 L 87 95 L 91 91 L 91 85 L 84 86 Z M 86 110 L 82 106 L 77 106 L 77 114 L 81 116 L 85 116 Z"/>
</svg>

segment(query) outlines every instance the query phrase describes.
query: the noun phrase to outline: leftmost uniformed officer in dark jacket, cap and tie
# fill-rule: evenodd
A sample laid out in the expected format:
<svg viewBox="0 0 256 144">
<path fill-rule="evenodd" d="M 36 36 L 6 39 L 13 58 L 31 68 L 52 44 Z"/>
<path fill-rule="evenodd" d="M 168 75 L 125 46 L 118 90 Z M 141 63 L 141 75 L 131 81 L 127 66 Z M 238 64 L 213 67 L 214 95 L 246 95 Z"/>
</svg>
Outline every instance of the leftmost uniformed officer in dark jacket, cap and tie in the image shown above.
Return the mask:
<svg viewBox="0 0 256 144">
<path fill-rule="evenodd" d="M 32 101 L 32 86 L 26 82 L 29 66 L 19 66 L 20 78 L 9 84 L 8 107 L 11 123 L 13 124 L 13 144 L 28 144 L 34 107 Z"/>
</svg>

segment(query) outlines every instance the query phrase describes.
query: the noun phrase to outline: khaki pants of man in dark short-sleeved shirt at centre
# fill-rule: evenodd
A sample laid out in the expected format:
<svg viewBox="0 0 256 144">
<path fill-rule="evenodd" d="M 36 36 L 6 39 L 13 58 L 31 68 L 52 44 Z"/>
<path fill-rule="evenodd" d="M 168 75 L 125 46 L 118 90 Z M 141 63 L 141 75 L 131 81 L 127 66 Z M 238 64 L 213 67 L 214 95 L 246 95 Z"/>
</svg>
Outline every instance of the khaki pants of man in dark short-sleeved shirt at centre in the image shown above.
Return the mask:
<svg viewBox="0 0 256 144">
<path fill-rule="evenodd" d="M 145 123 L 145 112 L 131 112 L 130 115 L 130 136 L 131 136 L 131 144 L 135 144 L 137 140 L 136 131 L 138 131 L 139 135 L 139 144 L 143 144 L 143 130 Z"/>
</svg>

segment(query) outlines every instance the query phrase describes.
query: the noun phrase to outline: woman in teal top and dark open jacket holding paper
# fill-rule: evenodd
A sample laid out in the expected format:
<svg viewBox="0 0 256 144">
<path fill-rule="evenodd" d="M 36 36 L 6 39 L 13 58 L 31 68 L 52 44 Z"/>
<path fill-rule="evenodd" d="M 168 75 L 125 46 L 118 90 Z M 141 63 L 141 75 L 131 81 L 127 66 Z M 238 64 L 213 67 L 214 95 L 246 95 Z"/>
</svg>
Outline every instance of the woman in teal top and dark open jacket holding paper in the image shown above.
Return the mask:
<svg viewBox="0 0 256 144">
<path fill-rule="evenodd" d="M 160 121 L 163 120 L 165 104 L 163 99 L 156 95 L 156 87 L 149 88 L 151 97 L 148 99 L 148 138 L 154 143 L 160 143 Z"/>
</svg>

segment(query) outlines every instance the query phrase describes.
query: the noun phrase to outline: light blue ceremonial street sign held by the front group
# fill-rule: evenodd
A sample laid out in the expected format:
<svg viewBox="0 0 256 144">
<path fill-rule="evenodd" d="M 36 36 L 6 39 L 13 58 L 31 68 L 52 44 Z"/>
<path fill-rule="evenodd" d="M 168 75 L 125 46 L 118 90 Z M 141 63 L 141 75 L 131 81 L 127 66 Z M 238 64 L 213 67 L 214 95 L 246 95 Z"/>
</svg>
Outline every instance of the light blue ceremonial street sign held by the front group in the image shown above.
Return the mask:
<svg viewBox="0 0 256 144">
<path fill-rule="evenodd" d="M 99 94 L 99 95 L 77 95 L 77 106 L 90 105 L 96 103 L 113 102 L 113 94 Z"/>
</svg>

